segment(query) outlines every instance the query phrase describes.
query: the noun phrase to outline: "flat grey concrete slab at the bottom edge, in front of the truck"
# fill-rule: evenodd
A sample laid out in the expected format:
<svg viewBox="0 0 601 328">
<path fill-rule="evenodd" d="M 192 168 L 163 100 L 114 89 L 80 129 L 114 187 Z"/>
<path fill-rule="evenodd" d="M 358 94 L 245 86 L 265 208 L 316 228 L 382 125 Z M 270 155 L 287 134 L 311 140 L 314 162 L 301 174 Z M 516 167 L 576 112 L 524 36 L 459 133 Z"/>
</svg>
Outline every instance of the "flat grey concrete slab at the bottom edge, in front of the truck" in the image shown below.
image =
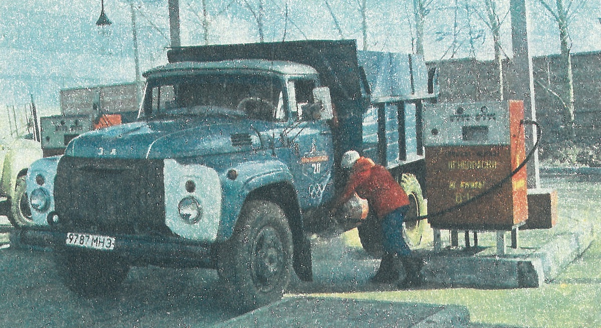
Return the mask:
<svg viewBox="0 0 601 328">
<path fill-rule="evenodd" d="M 293 297 L 217 327 L 469 327 L 463 306 Z"/>
</svg>

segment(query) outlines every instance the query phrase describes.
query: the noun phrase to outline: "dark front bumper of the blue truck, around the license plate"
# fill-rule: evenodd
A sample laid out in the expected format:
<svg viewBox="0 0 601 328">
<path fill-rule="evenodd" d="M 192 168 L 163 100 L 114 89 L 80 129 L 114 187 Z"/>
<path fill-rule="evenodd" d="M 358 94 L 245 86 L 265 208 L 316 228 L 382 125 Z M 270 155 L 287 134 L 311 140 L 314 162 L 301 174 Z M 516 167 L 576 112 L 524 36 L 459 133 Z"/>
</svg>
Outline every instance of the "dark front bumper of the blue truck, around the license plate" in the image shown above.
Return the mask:
<svg viewBox="0 0 601 328">
<path fill-rule="evenodd" d="M 78 246 L 66 245 L 67 233 L 43 229 L 17 229 L 11 232 L 11 247 L 79 249 Z M 202 267 L 216 268 L 216 247 L 211 243 L 200 243 L 182 240 L 178 237 L 111 235 L 115 238 L 115 248 L 111 252 L 132 266 L 148 264 L 162 267 Z"/>
</svg>

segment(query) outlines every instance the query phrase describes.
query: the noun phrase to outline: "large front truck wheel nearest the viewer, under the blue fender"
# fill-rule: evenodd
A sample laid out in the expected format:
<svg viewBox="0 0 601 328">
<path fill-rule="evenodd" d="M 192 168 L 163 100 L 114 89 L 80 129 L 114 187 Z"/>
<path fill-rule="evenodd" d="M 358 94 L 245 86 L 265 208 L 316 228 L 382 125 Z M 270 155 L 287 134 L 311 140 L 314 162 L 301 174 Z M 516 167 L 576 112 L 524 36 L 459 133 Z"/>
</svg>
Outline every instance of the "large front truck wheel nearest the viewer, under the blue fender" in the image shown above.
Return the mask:
<svg viewBox="0 0 601 328">
<path fill-rule="evenodd" d="M 249 201 L 218 254 L 218 273 L 233 309 L 246 312 L 280 300 L 290 282 L 293 244 L 284 212 L 269 201 Z"/>
</svg>

